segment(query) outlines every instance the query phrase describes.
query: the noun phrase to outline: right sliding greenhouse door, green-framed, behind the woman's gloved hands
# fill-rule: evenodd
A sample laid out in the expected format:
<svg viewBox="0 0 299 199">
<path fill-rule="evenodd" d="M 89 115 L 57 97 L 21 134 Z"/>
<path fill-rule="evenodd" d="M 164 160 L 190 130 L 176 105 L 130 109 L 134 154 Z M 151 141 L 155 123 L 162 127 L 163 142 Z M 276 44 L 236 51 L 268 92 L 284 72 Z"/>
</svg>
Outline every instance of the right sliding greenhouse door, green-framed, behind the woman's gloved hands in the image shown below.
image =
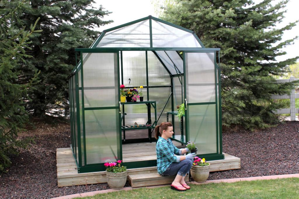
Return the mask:
<svg viewBox="0 0 299 199">
<path fill-rule="evenodd" d="M 196 143 L 201 158 L 223 159 L 217 158 L 222 154 L 219 154 L 218 141 L 215 52 L 185 51 L 183 56 L 186 141 Z"/>
</svg>

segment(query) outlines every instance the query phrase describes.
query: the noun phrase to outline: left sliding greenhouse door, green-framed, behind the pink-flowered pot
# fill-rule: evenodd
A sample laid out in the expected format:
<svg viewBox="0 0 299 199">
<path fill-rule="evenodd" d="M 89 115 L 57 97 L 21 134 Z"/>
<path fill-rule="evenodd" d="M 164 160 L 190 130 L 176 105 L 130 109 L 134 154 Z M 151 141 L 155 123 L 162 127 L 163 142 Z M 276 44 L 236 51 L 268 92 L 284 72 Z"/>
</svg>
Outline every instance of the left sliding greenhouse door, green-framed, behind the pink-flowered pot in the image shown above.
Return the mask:
<svg viewBox="0 0 299 199">
<path fill-rule="evenodd" d="M 83 164 L 102 165 L 121 158 L 119 52 L 81 52 L 81 63 Z"/>
</svg>

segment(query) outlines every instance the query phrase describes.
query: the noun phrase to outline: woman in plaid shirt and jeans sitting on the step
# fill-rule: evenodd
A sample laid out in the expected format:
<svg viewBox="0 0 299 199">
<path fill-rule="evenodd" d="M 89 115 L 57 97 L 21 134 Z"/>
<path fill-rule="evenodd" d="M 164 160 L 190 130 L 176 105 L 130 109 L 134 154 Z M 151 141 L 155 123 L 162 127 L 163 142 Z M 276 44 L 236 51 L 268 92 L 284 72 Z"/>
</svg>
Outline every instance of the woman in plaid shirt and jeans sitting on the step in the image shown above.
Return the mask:
<svg viewBox="0 0 299 199">
<path fill-rule="evenodd" d="M 162 122 L 155 127 L 155 138 L 158 140 L 156 144 L 157 169 L 158 173 L 164 177 L 176 175 L 171 183 L 171 189 L 185 191 L 190 189 L 190 186 L 186 184 L 184 178 L 192 167 L 196 153 L 182 155 L 189 152 L 189 149 L 176 148 L 170 140 L 172 135 L 173 126 L 170 122 Z"/>
</svg>

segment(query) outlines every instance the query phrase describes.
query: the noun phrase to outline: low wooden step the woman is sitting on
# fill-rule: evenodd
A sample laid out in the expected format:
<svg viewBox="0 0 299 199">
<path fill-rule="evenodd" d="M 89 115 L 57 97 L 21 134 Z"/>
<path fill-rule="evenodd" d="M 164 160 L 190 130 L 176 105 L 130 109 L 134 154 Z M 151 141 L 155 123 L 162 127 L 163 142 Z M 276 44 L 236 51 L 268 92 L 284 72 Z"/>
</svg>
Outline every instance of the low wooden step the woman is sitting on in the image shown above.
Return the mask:
<svg viewBox="0 0 299 199">
<path fill-rule="evenodd" d="M 159 184 L 171 184 L 176 176 L 162 177 L 158 172 L 146 174 L 129 174 L 128 179 L 132 187 L 152 186 Z M 189 181 L 189 175 L 186 175 L 185 181 Z"/>
</svg>

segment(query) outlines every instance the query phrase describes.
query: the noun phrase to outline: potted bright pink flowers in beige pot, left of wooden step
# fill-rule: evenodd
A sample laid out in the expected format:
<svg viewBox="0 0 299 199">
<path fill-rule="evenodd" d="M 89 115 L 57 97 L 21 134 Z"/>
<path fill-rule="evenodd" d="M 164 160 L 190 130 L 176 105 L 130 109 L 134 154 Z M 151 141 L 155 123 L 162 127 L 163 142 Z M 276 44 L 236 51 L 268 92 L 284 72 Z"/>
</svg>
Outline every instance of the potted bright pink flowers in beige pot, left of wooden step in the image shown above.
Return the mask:
<svg viewBox="0 0 299 199">
<path fill-rule="evenodd" d="M 112 189 L 121 189 L 125 186 L 127 181 L 127 167 L 121 166 L 121 160 L 117 162 L 106 162 L 104 166 L 106 169 L 107 183 Z"/>
</svg>

